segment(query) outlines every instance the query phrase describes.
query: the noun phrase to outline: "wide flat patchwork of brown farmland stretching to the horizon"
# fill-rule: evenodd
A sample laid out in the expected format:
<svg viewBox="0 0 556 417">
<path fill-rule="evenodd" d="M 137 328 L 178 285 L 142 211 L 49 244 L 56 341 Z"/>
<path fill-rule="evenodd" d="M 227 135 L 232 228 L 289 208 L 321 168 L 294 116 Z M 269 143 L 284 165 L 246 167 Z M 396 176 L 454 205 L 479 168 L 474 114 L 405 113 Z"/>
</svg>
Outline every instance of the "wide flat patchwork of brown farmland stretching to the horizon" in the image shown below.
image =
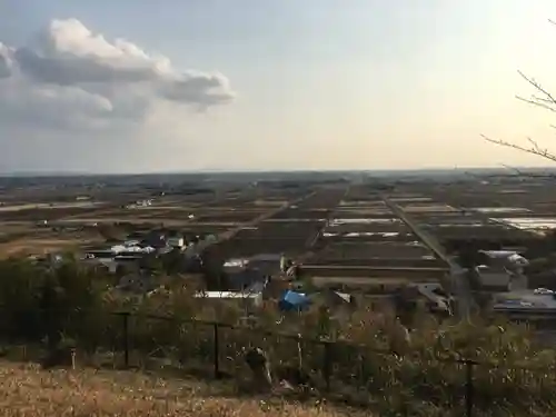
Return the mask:
<svg viewBox="0 0 556 417">
<path fill-rule="evenodd" d="M 304 180 L 287 187 L 139 181 L 42 186 L 40 192 L 3 188 L 0 254 L 87 248 L 102 244 L 107 228 L 125 236 L 166 227 L 187 236 L 214 235 L 207 250 L 225 259 L 285 254 L 319 282 L 327 277 L 359 284 L 366 278 L 369 285 L 440 281 L 448 267 L 416 235 L 415 225 L 448 254 L 470 238 L 493 248 L 527 247 L 556 225 L 556 196 L 548 185 L 498 182 L 421 180 L 397 183 L 387 193 L 371 182 Z M 386 197 L 413 225 L 393 212 Z"/>
</svg>

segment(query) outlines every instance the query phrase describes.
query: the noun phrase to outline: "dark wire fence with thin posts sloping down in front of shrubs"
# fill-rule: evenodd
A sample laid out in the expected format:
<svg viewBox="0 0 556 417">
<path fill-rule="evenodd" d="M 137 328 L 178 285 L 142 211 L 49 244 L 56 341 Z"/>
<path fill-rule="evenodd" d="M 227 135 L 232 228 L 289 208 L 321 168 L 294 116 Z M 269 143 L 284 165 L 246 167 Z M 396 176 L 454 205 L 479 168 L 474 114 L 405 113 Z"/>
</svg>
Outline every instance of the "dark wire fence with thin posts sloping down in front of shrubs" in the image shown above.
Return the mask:
<svg viewBox="0 0 556 417">
<path fill-rule="evenodd" d="M 419 357 L 416 365 L 411 355 L 400 356 L 346 341 L 152 315 L 118 312 L 117 316 L 121 321 L 126 367 L 137 366 L 135 360 L 147 355 L 147 360 L 163 358 L 167 363 L 208 366 L 218 379 L 237 375 L 245 366 L 244 351 L 260 347 L 268 353 L 274 369 L 300 367 L 324 393 L 354 401 L 369 397 L 399 403 L 420 398 L 465 416 L 493 407 L 507 409 L 516 403 L 520 403 L 519 408 L 530 410 L 530 404 L 552 401 L 555 387 L 553 379 L 543 386 L 538 369 L 507 369 L 433 354 Z M 145 359 L 139 360 L 145 366 Z"/>
</svg>

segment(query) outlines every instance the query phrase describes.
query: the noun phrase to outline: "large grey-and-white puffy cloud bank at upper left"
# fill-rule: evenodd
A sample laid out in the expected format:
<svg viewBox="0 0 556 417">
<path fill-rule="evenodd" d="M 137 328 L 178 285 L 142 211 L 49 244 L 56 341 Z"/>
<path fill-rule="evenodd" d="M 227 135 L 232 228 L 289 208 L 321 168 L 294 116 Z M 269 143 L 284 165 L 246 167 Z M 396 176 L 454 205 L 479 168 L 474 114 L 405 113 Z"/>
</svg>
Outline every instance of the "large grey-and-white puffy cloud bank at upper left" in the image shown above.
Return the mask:
<svg viewBox="0 0 556 417">
<path fill-rule="evenodd" d="M 0 42 L 0 128 L 137 126 L 159 105 L 203 110 L 232 99 L 225 76 L 180 71 L 168 58 L 109 40 L 77 19 L 53 20 L 24 46 Z"/>
</svg>

